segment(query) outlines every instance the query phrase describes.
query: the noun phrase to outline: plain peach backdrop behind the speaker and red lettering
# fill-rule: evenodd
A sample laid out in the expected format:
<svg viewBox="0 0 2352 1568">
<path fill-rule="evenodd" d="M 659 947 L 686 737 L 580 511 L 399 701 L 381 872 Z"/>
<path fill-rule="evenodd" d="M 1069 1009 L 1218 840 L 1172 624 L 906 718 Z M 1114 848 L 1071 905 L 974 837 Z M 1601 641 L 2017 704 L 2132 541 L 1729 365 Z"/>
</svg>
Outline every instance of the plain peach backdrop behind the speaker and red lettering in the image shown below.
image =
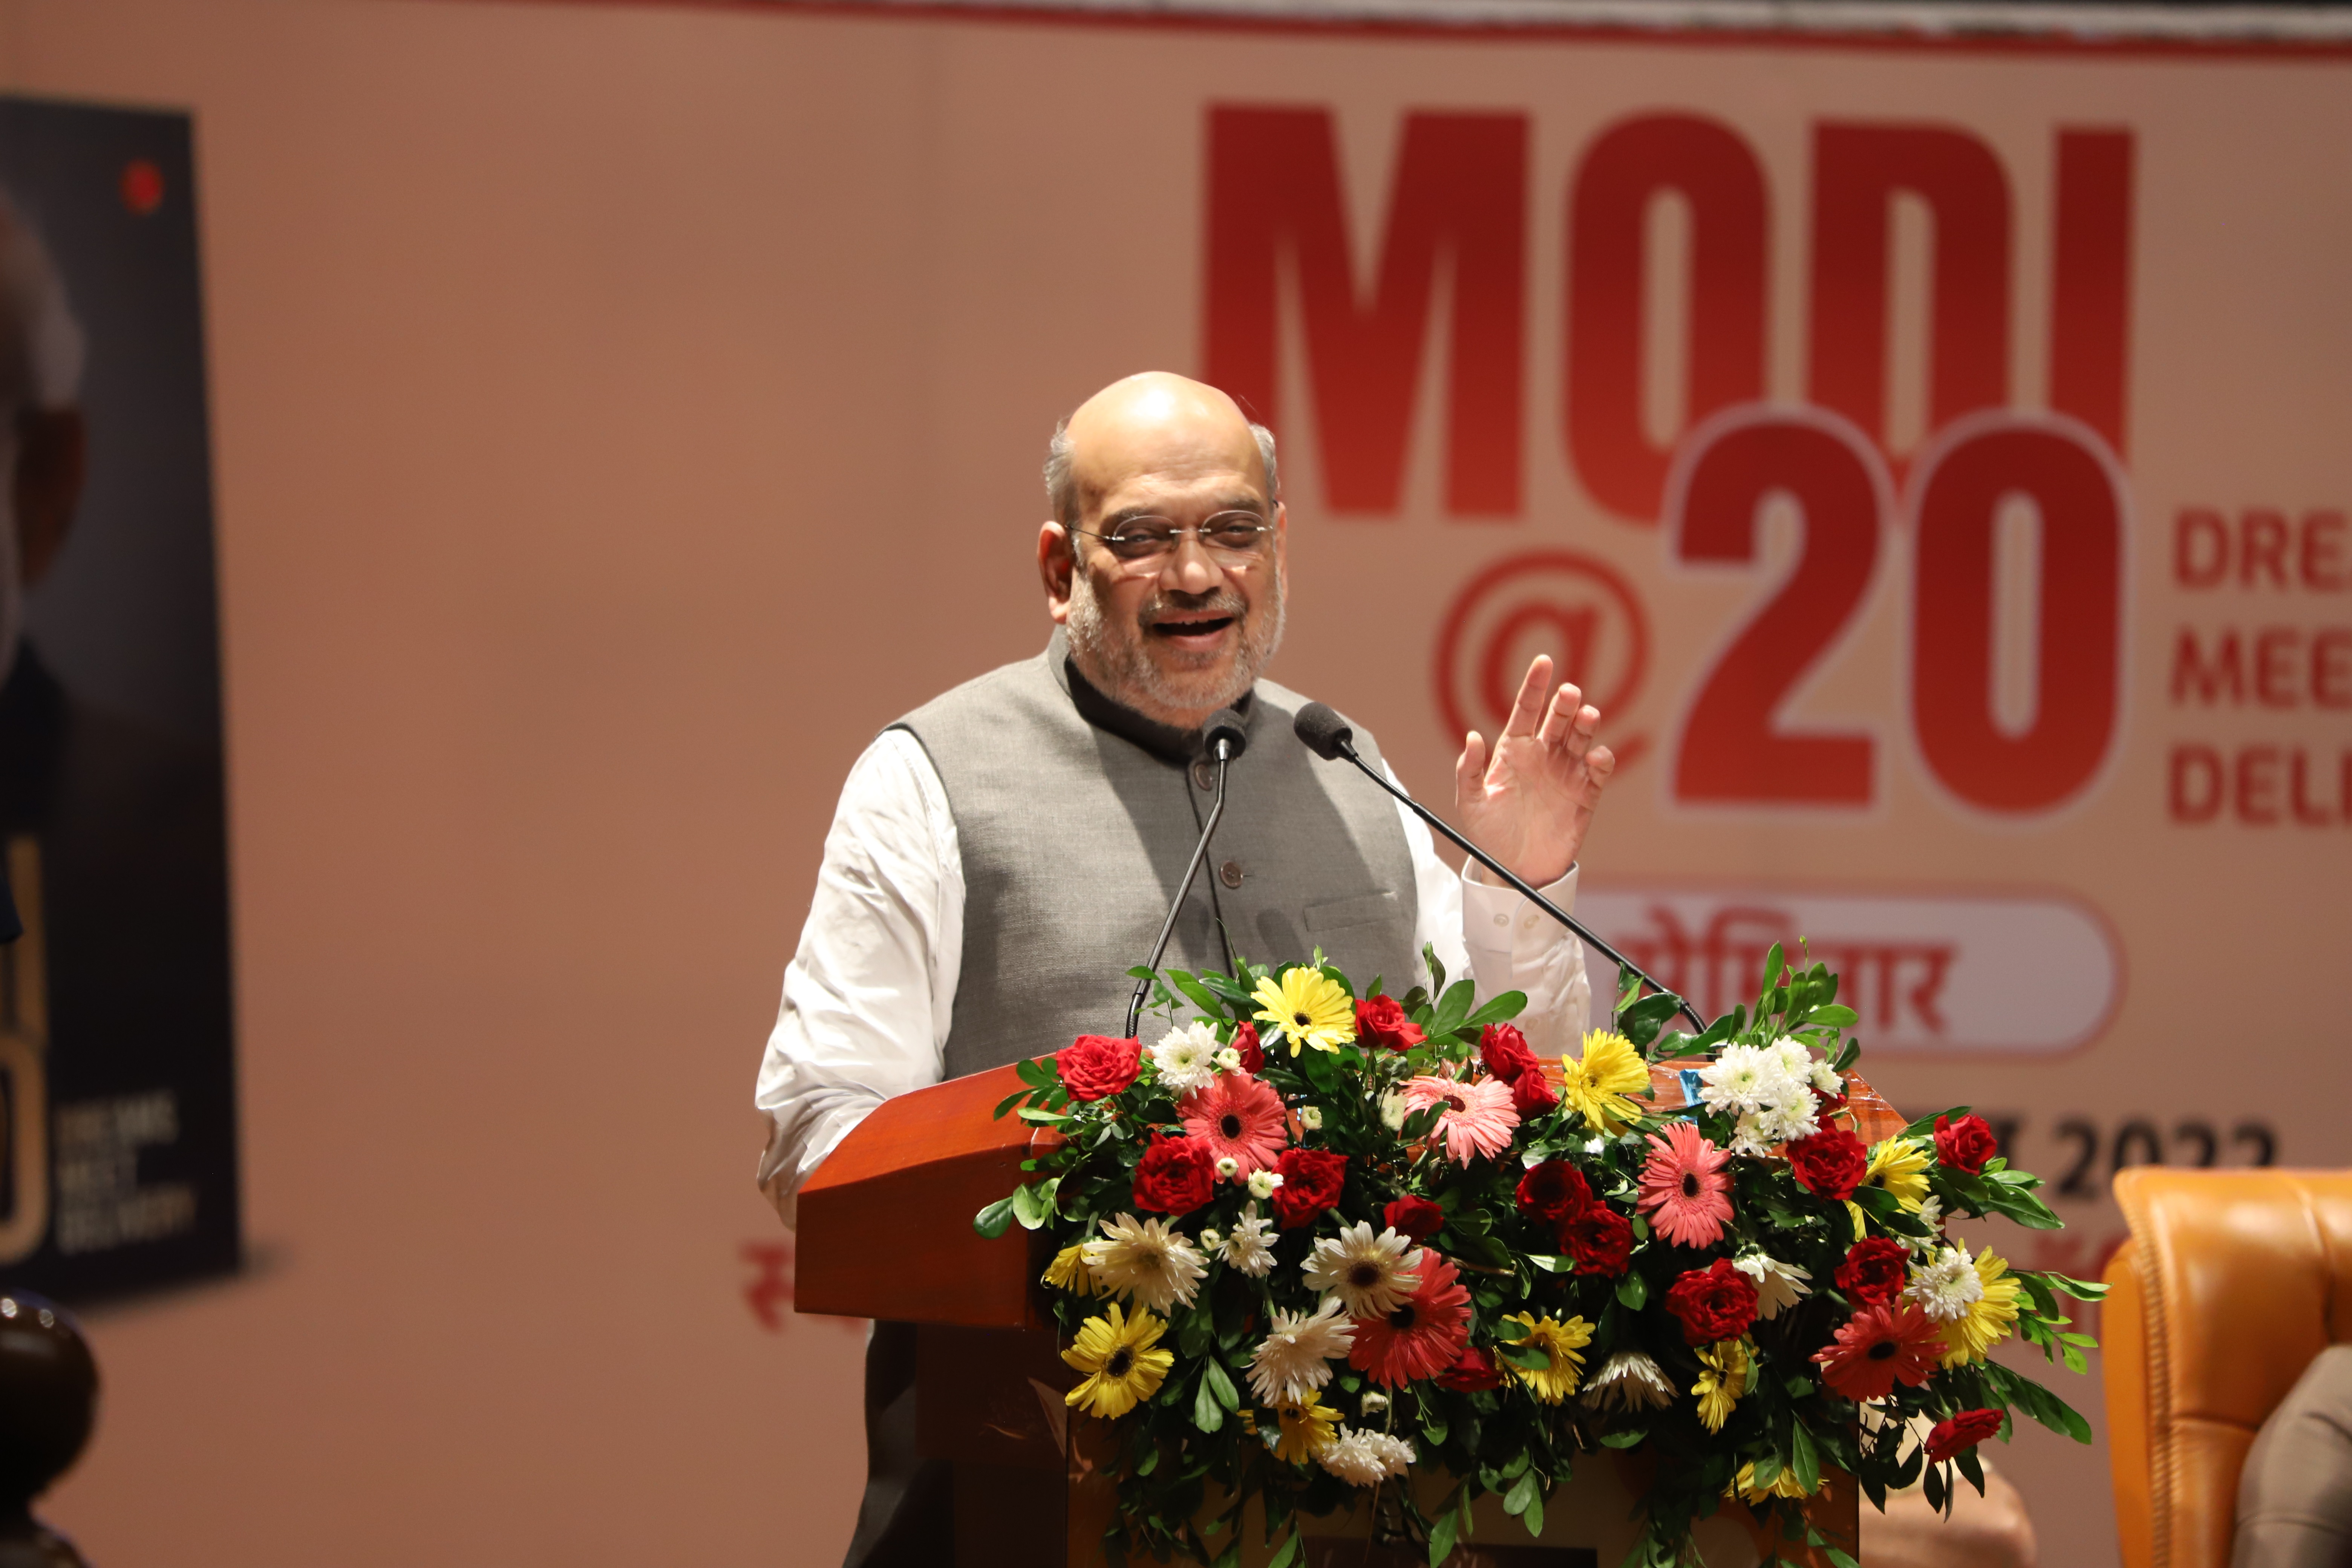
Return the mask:
<svg viewBox="0 0 2352 1568">
<path fill-rule="evenodd" d="M 1388 524 L 1327 520 L 1310 440 L 1287 465 L 1277 672 L 1364 715 L 1425 788 L 1446 769 L 1430 644 L 1479 564 L 1573 543 L 1639 574 L 1679 632 L 1621 715 L 1653 736 L 1752 597 L 1661 571 L 1656 534 L 1602 522 L 1559 461 L 1559 200 L 1597 125 L 1705 106 L 1757 143 L 1783 397 L 1809 120 L 1973 127 L 2018 169 L 2027 249 L 2051 125 L 2133 125 L 2114 780 L 2027 827 L 1955 818 L 1900 766 L 1863 823 L 1708 818 L 1651 762 L 1590 877 L 2082 889 L 2129 954 L 2093 1048 L 1884 1058 L 1879 1084 L 2032 1110 L 2042 1168 L 2074 1107 L 2260 1110 L 2288 1157 L 2340 1161 L 2326 1095 L 2272 1103 L 2211 1048 L 2284 1039 L 2333 1072 L 2300 1041 L 2333 1018 L 2352 835 L 2171 832 L 2159 769 L 2190 611 L 2161 520 L 2352 491 L 2352 306 L 2328 270 L 2352 240 L 2345 71 L 0 0 L 0 85 L 195 110 L 256 1258 L 94 1319 L 103 1427 L 54 1516 L 115 1568 L 837 1561 L 858 1342 L 746 1305 L 741 1248 L 776 1237 L 753 1063 L 849 759 L 1044 635 L 1025 555 L 1051 416 L 1197 362 L 1209 99 L 1341 106 L 1357 214 L 1381 209 L 1402 106 L 1536 115 L 1529 520 L 1446 524 L 1428 442 Z M 2025 362 L 2039 343 L 2020 324 Z M 1802 712 L 1893 736 L 1898 625 L 1872 599 Z M 2340 724 L 2286 733 L 2333 745 Z M 2070 1218 L 2086 1244 L 2114 1229 L 2103 1201 Z M 2112 1561 L 2103 1462 L 2016 1453 L 2046 1561 Z"/>
</svg>

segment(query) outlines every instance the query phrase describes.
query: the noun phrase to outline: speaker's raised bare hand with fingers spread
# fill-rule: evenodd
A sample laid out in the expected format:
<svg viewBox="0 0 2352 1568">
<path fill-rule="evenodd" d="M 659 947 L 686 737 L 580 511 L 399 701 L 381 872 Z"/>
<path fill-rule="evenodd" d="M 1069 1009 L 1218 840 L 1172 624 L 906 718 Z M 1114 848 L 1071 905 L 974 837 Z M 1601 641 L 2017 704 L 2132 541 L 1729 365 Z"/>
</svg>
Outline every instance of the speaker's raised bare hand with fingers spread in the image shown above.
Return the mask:
<svg viewBox="0 0 2352 1568">
<path fill-rule="evenodd" d="M 1472 729 L 1454 764 L 1454 818 L 1534 886 L 1557 882 L 1576 863 L 1616 771 L 1616 755 L 1592 738 L 1602 715 L 1583 703 L 1576 686 L 1552 689 L 1552 661 L 1538 654 L 1494 755 Z"/>
</svg>

